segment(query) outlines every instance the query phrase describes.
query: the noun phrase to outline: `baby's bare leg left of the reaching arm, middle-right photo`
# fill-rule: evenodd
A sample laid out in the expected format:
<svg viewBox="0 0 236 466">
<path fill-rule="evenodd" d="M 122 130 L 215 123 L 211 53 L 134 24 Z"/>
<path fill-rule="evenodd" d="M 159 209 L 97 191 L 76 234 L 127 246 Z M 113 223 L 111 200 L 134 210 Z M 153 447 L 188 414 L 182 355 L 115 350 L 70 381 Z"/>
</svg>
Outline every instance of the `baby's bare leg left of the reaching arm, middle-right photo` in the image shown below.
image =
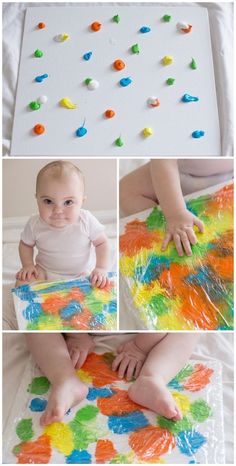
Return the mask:
<svg viewBox="0 0 236 466">
<path fill-rule="evenodd" d="M 157 198 L 153 189 L 150 162 L 126 175 L 120 181 L 120 207 L 124 215 L 154 207 Z"/>
</svg>

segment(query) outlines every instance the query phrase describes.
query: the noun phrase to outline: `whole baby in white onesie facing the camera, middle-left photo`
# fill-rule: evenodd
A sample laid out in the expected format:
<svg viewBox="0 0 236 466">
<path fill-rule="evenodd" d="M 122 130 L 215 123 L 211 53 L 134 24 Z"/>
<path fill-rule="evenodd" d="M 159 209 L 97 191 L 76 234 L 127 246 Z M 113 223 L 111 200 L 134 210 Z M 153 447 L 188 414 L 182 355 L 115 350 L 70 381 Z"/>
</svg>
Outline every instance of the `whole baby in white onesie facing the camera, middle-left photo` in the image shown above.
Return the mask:
<svg viewBox="0 0 236 466">
<path fill-rule="evenodd" d="M 22 268 L 16 286 L 35 280 L 73 279 L 89 275 L 93 286 L 107 283 L 108 240 L 104 227 L 82 209 L 84 178 L 70 162 L 55 161 L 37 176 L 38 215 L 26 224 L 19 245 Z M 95 248 L 96 265 L 91 267 Z M 34 262 L 34 248 L 38 253 Z"/>
</svg>

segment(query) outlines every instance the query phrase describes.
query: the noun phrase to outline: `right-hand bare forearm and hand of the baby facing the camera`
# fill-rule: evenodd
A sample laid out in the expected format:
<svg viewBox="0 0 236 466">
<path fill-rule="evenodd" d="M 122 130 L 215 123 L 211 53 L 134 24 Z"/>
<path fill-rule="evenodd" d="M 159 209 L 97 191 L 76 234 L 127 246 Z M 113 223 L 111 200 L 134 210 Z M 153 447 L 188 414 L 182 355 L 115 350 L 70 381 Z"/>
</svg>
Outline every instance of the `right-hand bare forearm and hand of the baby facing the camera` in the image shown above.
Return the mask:
<svg viewBox="0 0 236 466">
<path fill-rule="evenodd" d="M 109 245 L 106 235 L 101 234 L 93 241 L 96 253 L 96 266 L 90 274 L 90 280 L 93 286 L 104 288 L 107 284 L 107 268 L 109 263 Z"/>
</svg>

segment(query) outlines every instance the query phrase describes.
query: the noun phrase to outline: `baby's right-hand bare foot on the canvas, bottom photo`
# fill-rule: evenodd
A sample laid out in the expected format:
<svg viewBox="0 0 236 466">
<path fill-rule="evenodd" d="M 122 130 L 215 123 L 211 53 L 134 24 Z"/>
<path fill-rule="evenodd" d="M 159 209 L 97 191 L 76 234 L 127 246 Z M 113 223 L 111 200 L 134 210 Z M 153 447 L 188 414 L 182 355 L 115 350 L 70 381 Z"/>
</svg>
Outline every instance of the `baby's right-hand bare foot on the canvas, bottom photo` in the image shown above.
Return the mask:
<svg viewBox="0 0 236 466">
<path fill-rule="evenodd" d="M 182 414 L 171 396 L 163 379 L 139 376 L 129 388 L 129 397 L 135 403 L 155 411 L 157 414 L 178 421 Z"/>
</svg>

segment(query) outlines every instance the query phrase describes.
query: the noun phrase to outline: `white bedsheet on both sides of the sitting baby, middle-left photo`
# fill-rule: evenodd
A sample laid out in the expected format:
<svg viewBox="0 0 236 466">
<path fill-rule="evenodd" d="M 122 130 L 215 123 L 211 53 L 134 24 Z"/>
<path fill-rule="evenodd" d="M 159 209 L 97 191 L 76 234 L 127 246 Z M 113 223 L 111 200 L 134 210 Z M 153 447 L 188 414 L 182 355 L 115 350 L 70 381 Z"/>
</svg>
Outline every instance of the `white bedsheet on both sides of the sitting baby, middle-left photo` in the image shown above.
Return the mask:
<svg viewBox="0 0 236 466">
<path fill-rule="evenodd" d="M 116 235 L 116 212 L 93 212 L 98 220 L 106 227 L 109 239 L 111 256 L 110 271 L 117 271 L 117 235 Z M 2 309 L 3 329 L 17 330 L 18 325 L 11 295 L 11 288 L 15 283 L 15 274 L 20 268 L 18 245 L 20 233 L 24 228 L 27 217 L 7 218 L 3 220 L 3 275 L 2 275 Z"/>
</svg>

